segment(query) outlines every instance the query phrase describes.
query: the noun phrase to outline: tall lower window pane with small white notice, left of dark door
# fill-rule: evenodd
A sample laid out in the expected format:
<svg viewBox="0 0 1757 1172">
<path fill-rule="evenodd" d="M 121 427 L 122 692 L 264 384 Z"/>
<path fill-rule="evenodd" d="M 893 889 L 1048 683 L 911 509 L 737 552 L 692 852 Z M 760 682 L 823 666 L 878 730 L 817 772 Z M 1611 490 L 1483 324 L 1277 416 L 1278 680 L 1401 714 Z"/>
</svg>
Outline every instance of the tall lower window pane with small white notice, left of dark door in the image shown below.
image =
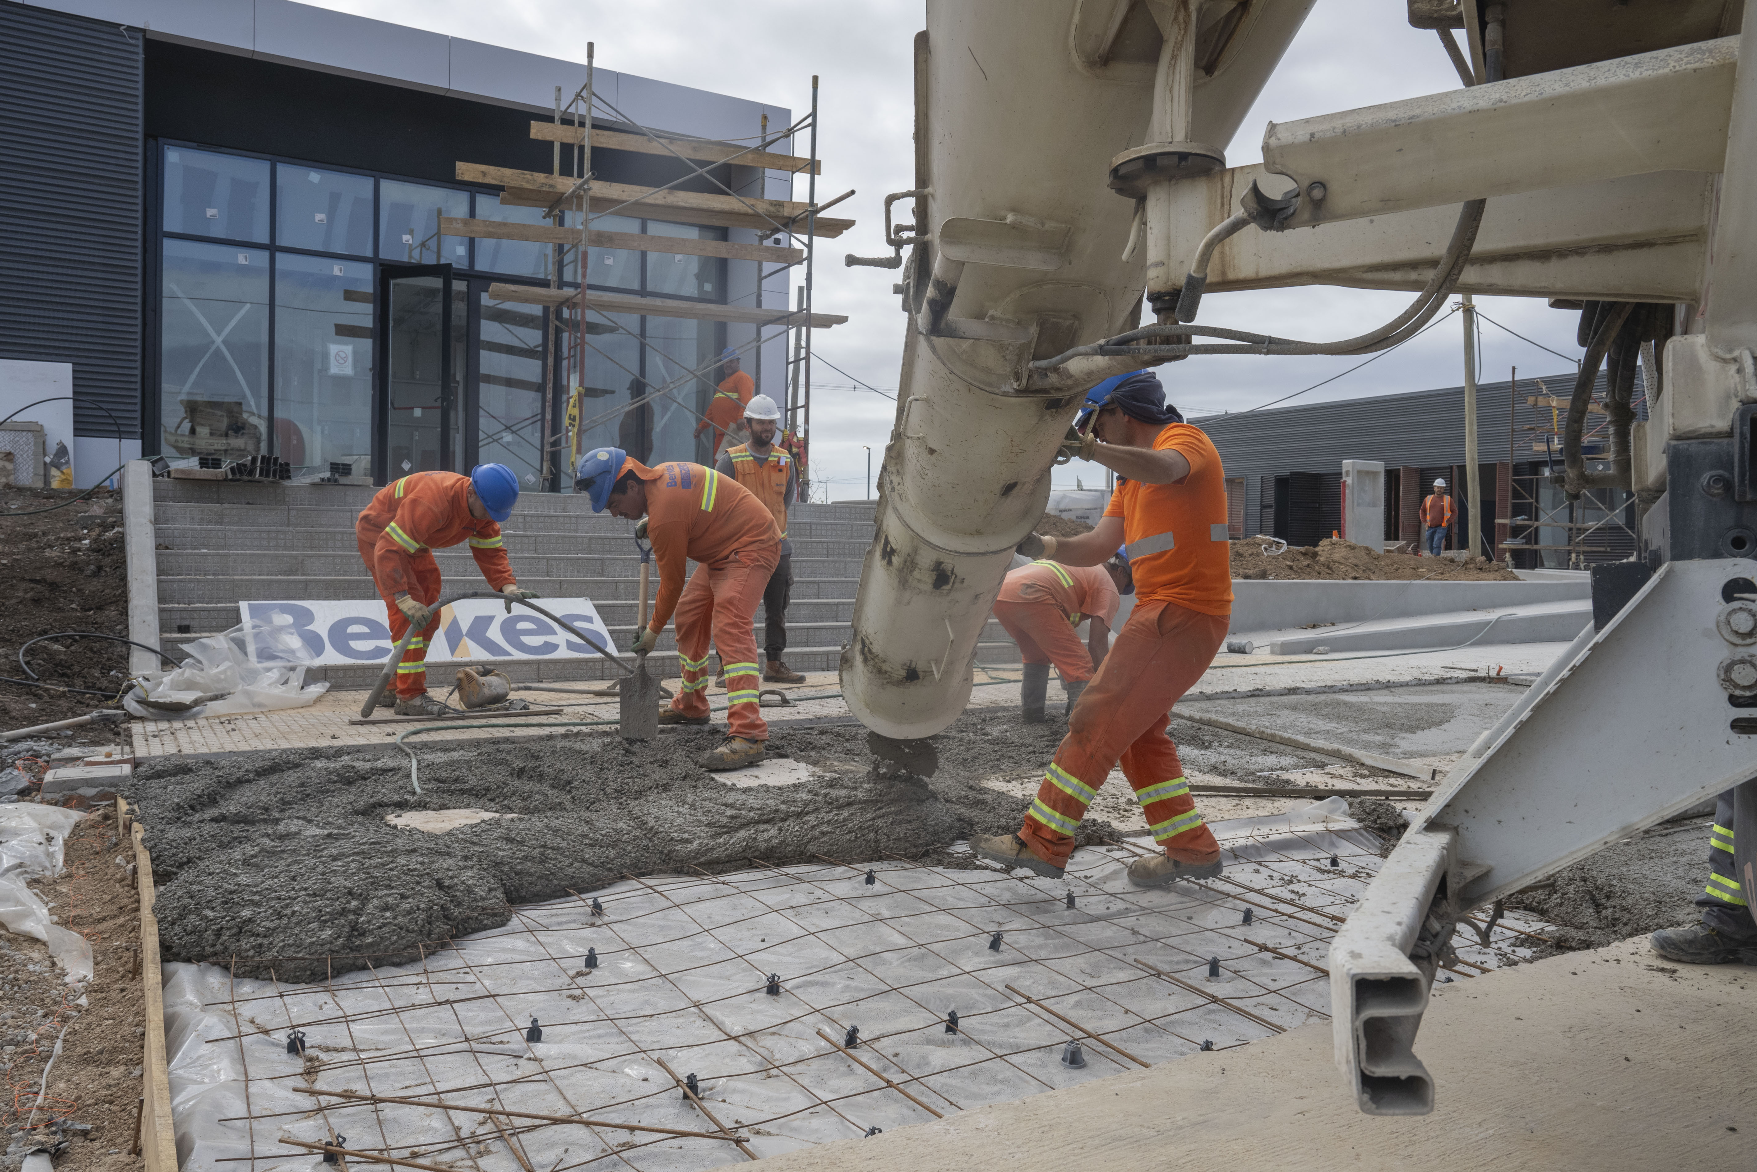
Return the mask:
<svg viewBox="0 0 1757 1172">
<path fill-rule="evenodd" d="M 295 476 L 372 474 L 371 262 L 276 253 L 274 453 Z"/>
</svg>

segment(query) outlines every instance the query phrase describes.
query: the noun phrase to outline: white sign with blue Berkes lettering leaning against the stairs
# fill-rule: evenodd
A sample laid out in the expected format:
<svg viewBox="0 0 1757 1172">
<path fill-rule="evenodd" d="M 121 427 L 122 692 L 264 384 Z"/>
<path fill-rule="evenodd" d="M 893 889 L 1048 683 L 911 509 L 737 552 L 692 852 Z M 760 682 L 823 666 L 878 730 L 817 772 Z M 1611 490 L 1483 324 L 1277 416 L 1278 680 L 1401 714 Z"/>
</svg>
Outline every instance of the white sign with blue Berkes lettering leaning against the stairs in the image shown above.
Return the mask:
<svg viewBox="0 0 1757 1172">
<path fill-rule="evenodd" d="M 583 638 L 615 650 L 610 631 L 604 629 L 604 620 L 597 617 L 590 599 L 557 597 L 543 599 L 539 604 L 573 624 L 575 631 L 557 631 L 553 622 L 524 606 L 513 606 L 513 613 L 506 613 L 506 604 L 492 597 L 462 599 L 439 611 L 439 631 L 427 648 L 427 662 L 437 666 L 480 659 L 596 657 L 597 652 L 583 643 Z M 385 603 L 376 597 L 239 603 L 237 608 L 246 622 L 255 619 L 292 626 L 311 652 L 313 666 L 381 664 L 395 647 L 390 626 L 385 622 Z M 255 641 L 249 655 L 253 662 L 286 662 L 285 655 L 269 647 L 257 647 Z"/>
</svg>

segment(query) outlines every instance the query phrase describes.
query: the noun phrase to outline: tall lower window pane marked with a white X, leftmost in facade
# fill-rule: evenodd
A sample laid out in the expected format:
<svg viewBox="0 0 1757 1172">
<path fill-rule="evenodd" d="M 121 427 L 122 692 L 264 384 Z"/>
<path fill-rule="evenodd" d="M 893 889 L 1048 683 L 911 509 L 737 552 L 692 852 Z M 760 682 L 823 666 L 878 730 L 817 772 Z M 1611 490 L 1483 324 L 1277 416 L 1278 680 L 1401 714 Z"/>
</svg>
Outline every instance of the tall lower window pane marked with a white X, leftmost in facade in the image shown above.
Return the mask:
<svg viewBox="0 0 1757 1172">
<path fill-rule="evenodd" d="M 167 455 L 264 452 L 269 253 L 163 241 L 160 418 Z"/>
</svg>

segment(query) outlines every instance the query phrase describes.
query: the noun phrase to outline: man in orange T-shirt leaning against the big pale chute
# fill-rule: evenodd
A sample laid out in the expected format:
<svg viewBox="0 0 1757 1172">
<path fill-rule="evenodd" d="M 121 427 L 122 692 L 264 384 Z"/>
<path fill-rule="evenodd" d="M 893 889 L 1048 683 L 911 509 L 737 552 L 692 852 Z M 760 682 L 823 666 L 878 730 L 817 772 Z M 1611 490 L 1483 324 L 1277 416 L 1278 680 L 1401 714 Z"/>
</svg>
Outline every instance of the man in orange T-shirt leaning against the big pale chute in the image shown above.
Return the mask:
<svg viewBox="0 0 1757 1172">
<path fill-rule="evenodd" d="M 1017 835 L 975 838 L 987 859 L 1059 877 L 1074 833 L 1117 761 L 1163 854 L 1135 859 L 1140 887 L 1219 875 L 1219 843 L 1197 814 L 1170 708 L 1226 638 L 1232 576 L 1226 481 L 1209 438 L 1175 408 L 1151 371 L 1105 380 L 1086 395 L 1081 457 L 1117 473 L 1098 527 L 1077 538 L 1030 534 L 1019 552 L 1096 566 L 1128 548 L 1135 610 L 1068 719 L 1056 757 Z M 1089 427 L 1086 427 L 1089 423 Z"/>
</svg>

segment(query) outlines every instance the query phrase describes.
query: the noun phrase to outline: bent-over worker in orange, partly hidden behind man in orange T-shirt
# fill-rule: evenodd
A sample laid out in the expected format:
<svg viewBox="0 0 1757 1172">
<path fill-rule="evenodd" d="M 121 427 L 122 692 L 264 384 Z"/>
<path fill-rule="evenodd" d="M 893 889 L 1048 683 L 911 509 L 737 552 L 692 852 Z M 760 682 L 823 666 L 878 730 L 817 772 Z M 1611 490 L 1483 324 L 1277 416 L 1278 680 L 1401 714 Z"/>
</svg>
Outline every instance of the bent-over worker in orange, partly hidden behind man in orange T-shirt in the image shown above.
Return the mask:
<svg viewBox="0 0 1757 1172">
<path fill-rule="evenodd" d="M 1063 566 L 1035 561 L 1007 575 L 994 599 L 994 619 L 1019 645 L 1024 680 L 1019 703 L 1026 724 L 1044 722 L 1044 698 L 1049 692 L 1049 664 L 1056 664 L 1061 691 L 1068 694 L 1066 715 L 1074 713 L 1086 680 L 1103 662 L 1110 648 L 1123 594 L 1133 594 L 1128 550 L 1117 550 L 1103 566 Z M 1077 629 L 1088 622 L 1086 643 Z"/>
</svg>

